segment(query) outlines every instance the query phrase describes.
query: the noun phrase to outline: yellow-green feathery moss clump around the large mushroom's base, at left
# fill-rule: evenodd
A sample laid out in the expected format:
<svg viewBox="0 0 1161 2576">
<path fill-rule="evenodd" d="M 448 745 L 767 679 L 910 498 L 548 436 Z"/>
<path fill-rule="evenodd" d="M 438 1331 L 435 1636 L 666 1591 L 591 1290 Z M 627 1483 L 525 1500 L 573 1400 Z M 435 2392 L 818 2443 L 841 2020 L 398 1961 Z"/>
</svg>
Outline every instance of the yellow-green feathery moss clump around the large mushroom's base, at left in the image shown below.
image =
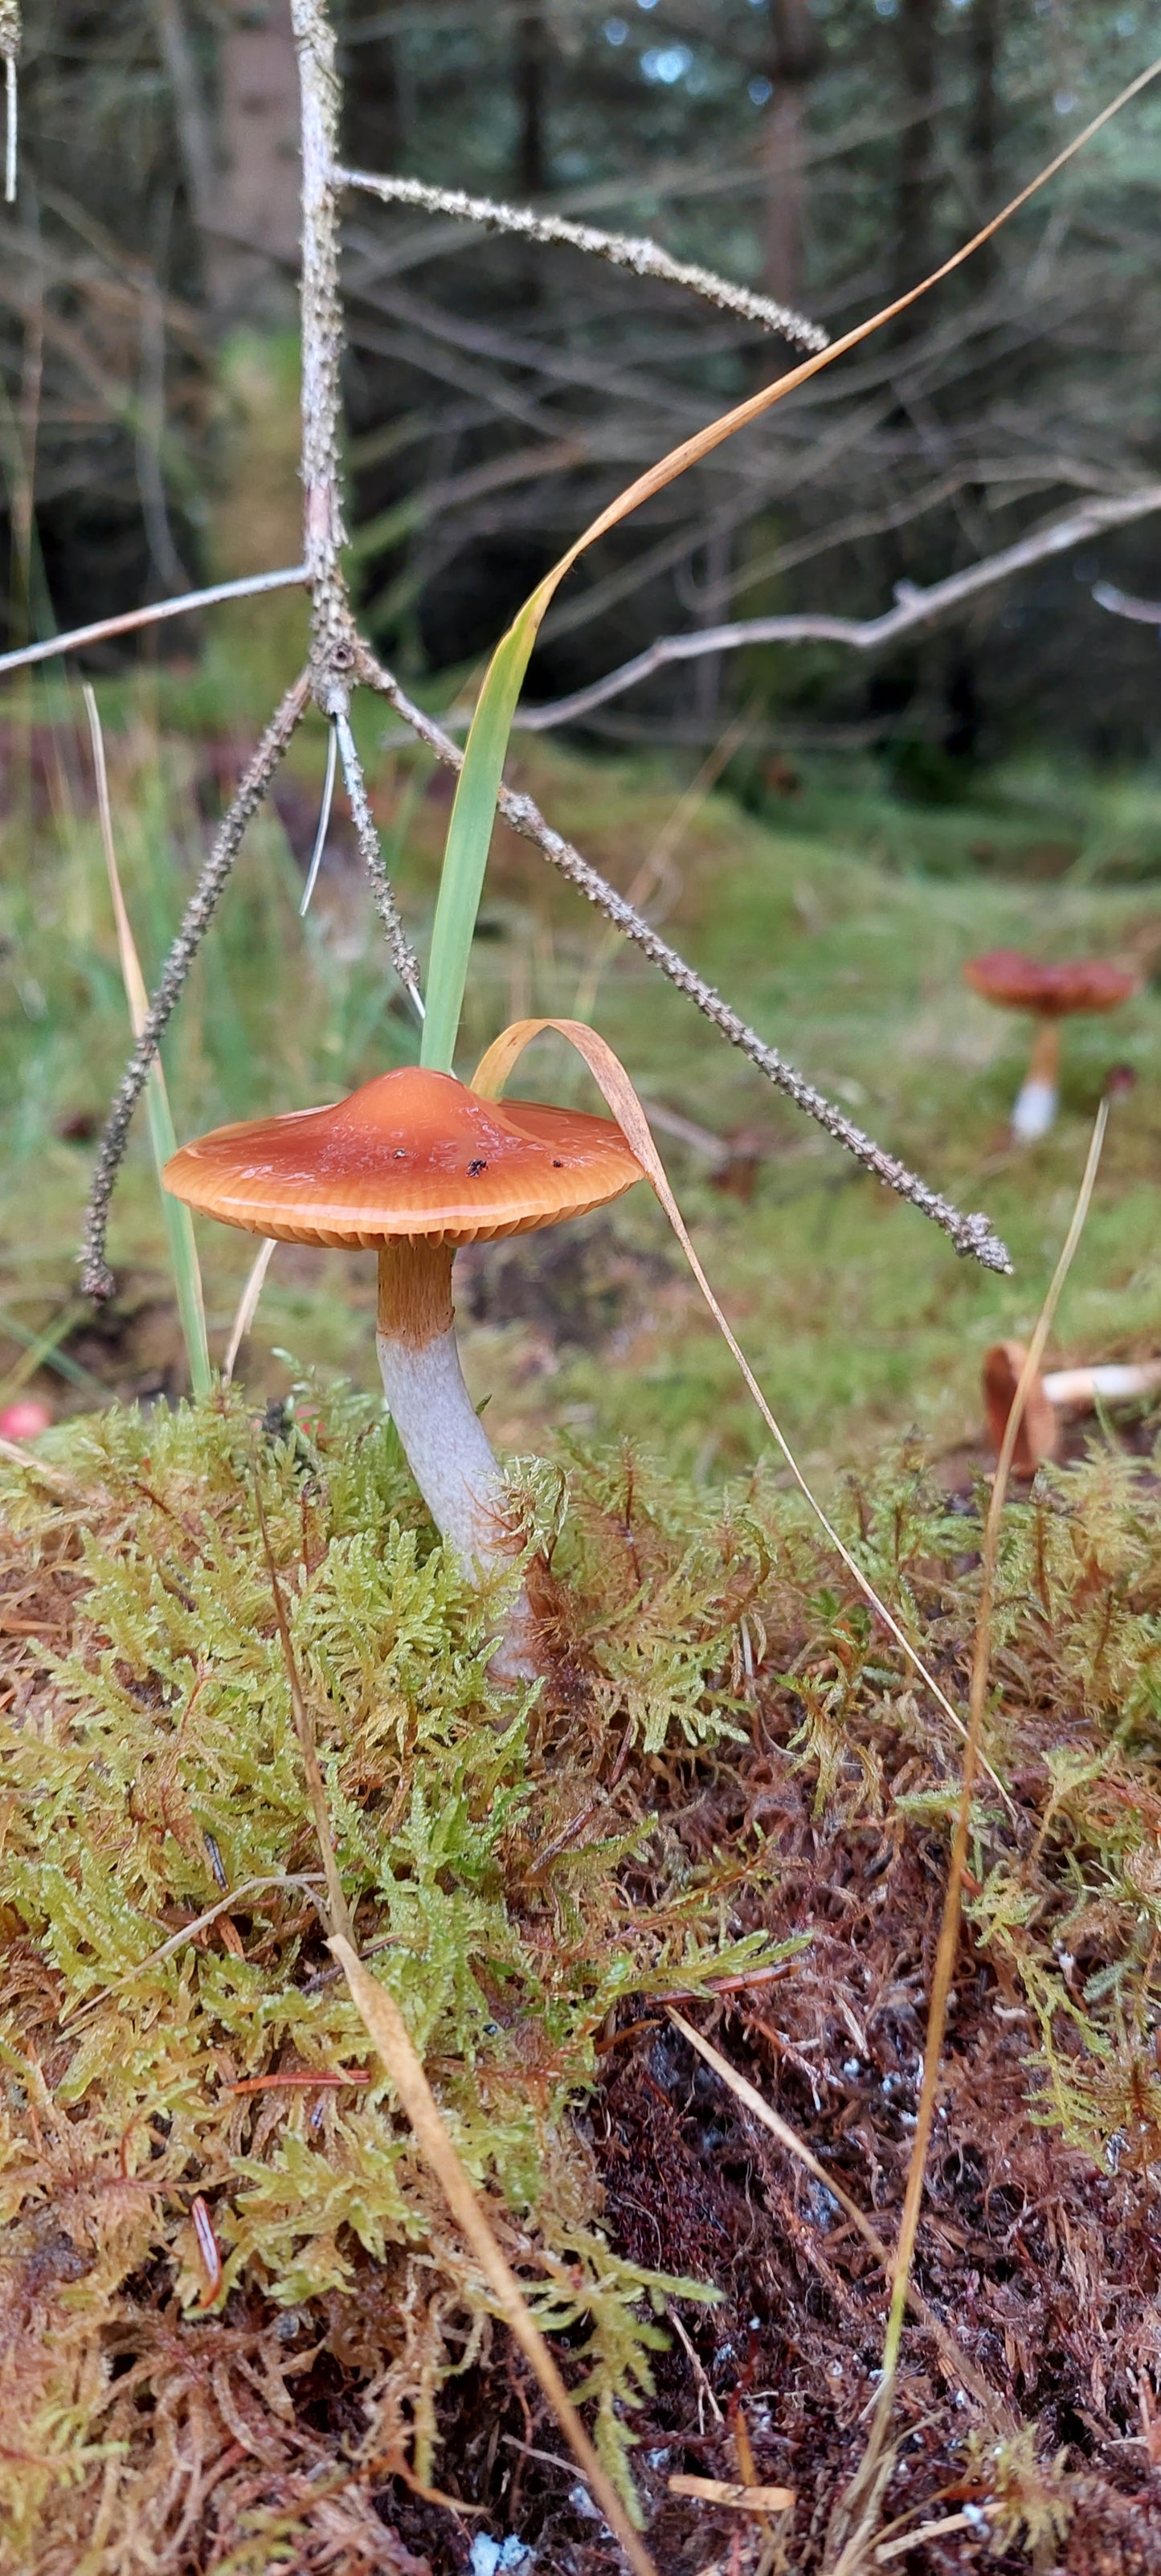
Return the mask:
<svg viewBox="0 0 1161 2576">
<path fill-rule="evenodd" d="M 561 1656 L 561 1690 L 520 1705 L 489 1682 L 484 1605 L 422 1525 L 371 1404 L 332 1401 L 311 1435 L 260 1443 L 239 1399 L 111 1412 L 72 1427 L 57 1458 L 77 1512 L 21 1473 L 5 1494 L 8 1546 L 26 1564 L 59 1564 L 64 1546 L 75 1589 L 72 1649 L 8 1710 L 3 1747 L 5 2213 L 23 2316 L 3 2476 L 18 2563 L 39 2530 L 80 2545 L 93 2481 L 134 2491 L 142 2445 L 157 2486 L 157 2442 L 170 2486 L 144 2532 L 149 2563 L 170 2563 L 185 2416 L 170 2439 L 160 2385 L 185 2344 L 219 2349 L 206 2326 L 190 2342 L 188 2321 L 224 2318 L 234 2342 L 242 2316 L 268 2321 L 250 2342 L 275 2414 L 319 2334 L 363 2334 L 376 2367 L 360 2458 L 407 2445 L 422 2481 L 438 2388 L 487 2329 L 484 2285 L 322 1947 L 255 1481 L 360 1947 L 469 2172 L 507 2213 L 541 2324 L 569 2331 L 626 2478 L 626 2409 L 649 2388 L 654 2311 L 674 2282 L 610 2254 L 569 2102 L 626 1994 L 698 1989 L 772 1955 L 762 1932 L 729 1940 L 713 1862 L 682 1888 L 662 1870 L 641 1901 L 649 1757 L 664 1770 L 669 1747 L 680 1759 L 734 1731 L 729 1641 L 757 1535 L 734 1533 L 713 1579 L 705 1538 L 641 1512 L 646 1561 L 620 1613 L 605 1607 L 584 1664 Z M 579 1556 L 600 1520 L 595 1481 Z M 615 1806 L 602 1770 L 631 1747 Z M 762 1870 L 759 1837 L 752 1860 Z M 232 2089 L 309 2069 L 355 2081 Z M 193 2195 L 221 2254 L 209 2311 Z M 149 2357 L 162 2318 L 165 2362 Z M 129 2349 L 121 2383 L 111 2360 Z"/>
</svg>

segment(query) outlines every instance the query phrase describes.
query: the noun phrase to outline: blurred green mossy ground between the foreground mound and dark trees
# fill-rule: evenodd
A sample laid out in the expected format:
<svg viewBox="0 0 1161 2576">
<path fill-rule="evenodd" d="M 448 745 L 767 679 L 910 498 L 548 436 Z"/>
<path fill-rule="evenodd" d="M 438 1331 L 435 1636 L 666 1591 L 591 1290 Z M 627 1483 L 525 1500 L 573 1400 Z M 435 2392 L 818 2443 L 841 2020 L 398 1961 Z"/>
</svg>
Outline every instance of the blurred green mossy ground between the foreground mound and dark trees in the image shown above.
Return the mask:
<svg viewBox="0 0 1161 2576">
<path fill-rule="evenodd" d="M 59 693 L 54 706 L 64 706 Z M 118 850 L 147 974 L 203 842 L 198 773 L 211 760 L 206 744 L 157 734 L 154 719 L 147 683 L 108 708 Z M 319 737 L 322 726 L 291 768 L 306 835 Z M 15 768 L 18 750 L 13 729 Z M 366 750 L 404 912 L 422 930 L 445 804 L 425 793 L 430 770 L 412 755 L 378 752 L 373 732 Z M 39 1388 L 64 1404 L 95 1401 L 108 1383 L 175 1391 L 180 1358 L 165 1324 L 165 1244 L 144 1131 L 113 1211 L 124 1298 L 103 1340 L 72 1296 L 90 1146 L 62 1126 L 103 1115 L 126 1030 L 82 747 L 62 724 L 36 726 L 31 755 L 36 801 L 5 829 L 0 873 L 0 1079 L 10 1100 L 0 1350 L 13 1381 L 28 1365 L 28 1337 L 59 1332 L 64 1363 L 75 1352 L 98 1381 L 41 1373 Z M 221 744 L 214 765 L 229 768 Z M 1012 1157 L 1004 1121 L 1027 1028 L 968 994 L 960 969 L 996 943 L 1151 958 L 1158 791 L 1022 770 L 986 778 L 971 806 L 922 806 L 891 793 L 870 762 L 834 762 L 806 768 L 798 793 L 762 791 L 762 811 L 716 793 L 672 832 L 677 783 L 662 762 L 597 765 L 517 744 L 517 775 L 618 884 L 644 871 L 677 943 L 752 1023 L 916 1170 L 960 1203 L 986 1206 L 1012 1247 L 1012 1280 L 958 1262 L 942 1236 L 857 1175 L 690 1005 L 623 953 L 535 855 L 497 835 L 461 1064 L 469 1069 L 517 1012 L 592 1015 L 646 1100 L 718 1133 L 759 1131 L 767 1151 L 749 1206 L 711 1188 L 705 1157 L 664 1133 L 659 1141 L 752 1365 L 816 1473 L 868 1458 L 911 1425 L 937 1448 L 973 1440 L 981 1352 L 999 1334 L 1025 1334 L 1035 1316 L 1091 1110 L 1117 1059 L 1140 1079 L 1112 1121 L 1058 1347 L 1063 1358 L 1110 1358 L 1156 1345 L 1156 994 L 1146 987 L 1115 1020 L 1068 1025 L 1061 1126 L 1035 1154 Z M 752 781 L 739 783 L 757 796 Z M 335 1097 L 414 1051 L 355 863 L 324 876 L 306 925 L 296 917 L 299 886 L 283 827 L 263 819 L 167 1048 L 178 1133 Z M 556 1061 L 548 1048 L 530 1059 L 525 1079 L 556 1097 L 587 1097 L 587 1077 L 564 1051 Z M 23 1211 L 33 1200 L 31 1224 Z M 252 1247 L 216 1226 L 201 1226 L 198 1244 L 211 1350 L 221 1352 Z M 574 1288 L 569 1311 L 535 1236 L 463 1270 L 469 1373 L 476 1394 L 492 1396 L 499 1445 L 533 1450 L 556 1422 L 662 1443 L 674 1466 L 698 1476 L 752 1458 L 759 1430 L 749 1401 L 646 1193 L 626 1200 L 613 1224 L 574 1229 L 561 1247 L 584 1288 Z M 247 1383 L 286 1391 L 273 1350 L 291 1350 L 371 1386 L 371 1260 L 283 1247 L 242 1352 Z M 471 1321 L 471 1309 L 481 1319 Z"/>
</svg>

